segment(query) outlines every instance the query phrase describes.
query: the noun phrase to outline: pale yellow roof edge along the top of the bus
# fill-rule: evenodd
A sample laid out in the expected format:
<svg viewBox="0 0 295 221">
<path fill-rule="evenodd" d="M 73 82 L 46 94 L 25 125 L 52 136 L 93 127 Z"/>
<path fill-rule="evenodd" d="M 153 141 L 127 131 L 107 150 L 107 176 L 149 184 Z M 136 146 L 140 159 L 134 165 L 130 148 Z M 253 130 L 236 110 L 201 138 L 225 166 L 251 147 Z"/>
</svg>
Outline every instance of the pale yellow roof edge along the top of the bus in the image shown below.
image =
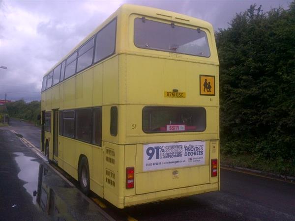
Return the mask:
<svg viewBox="0 0 295 221">
<path fill-rule="evenodd" d="M 89 35 L 87 35 L 76 47 L 74 47 L 68 54 L 63 56 L 59 62 L 57 62 L 49 71 L 47 71 L 43 76 L 50 73 L 55 67 L 57 67 L 63 60 L 65 60 L 69 55 L 75 52 L 80 46 L 82 46 L 86 41 L 89 40 L 95 33 L 97 33 L 101 28 L 111 22 L 116 16 L 124 15 L 129 17 L 131 14 L 146 15 L 149 17 L 155 17 L 158 19 L 174 21 L 177 23 L 182 23 L 186 25 L 194 25 L 200 28 L 206 28 L 210 33 L 214 33 L 213 27 L 210 23 L 197 19 L 188 15 L 179 14 L 172 11 L 167 11 L 159 8 L 147 7 L 142 5 L 134 4 L 123 4 L 121 5 L 112 15 L 110 15 L 103 23 L 101 23 L 97 28 L 95 28 Z"/>
</svg>

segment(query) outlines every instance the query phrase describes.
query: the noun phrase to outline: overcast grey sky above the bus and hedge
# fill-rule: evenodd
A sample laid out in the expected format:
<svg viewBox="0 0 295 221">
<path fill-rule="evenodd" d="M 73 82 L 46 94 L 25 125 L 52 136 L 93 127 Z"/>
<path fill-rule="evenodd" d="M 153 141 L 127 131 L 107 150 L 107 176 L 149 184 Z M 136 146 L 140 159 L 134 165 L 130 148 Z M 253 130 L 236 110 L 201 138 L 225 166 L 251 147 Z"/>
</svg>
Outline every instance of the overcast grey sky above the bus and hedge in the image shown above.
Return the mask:
<svg viewBox="0 0 295 221">
<path fill-rule="evenodd" d="M 292 0 L 0 0 L 0 99 L 40 100 L 42 77 L 123 3 L 196 17 L 215 30 L 251 4 L 264 11 Z"/>
</svg>

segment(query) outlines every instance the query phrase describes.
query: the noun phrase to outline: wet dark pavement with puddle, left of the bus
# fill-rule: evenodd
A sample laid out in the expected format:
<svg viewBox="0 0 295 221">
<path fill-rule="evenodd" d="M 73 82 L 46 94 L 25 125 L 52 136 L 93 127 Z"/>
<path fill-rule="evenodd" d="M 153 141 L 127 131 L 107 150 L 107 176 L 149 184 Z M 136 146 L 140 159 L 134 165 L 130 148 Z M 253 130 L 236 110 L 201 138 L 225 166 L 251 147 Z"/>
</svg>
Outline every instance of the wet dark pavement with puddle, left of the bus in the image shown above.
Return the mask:
<svg viewBox="0 0 295 221">
<path fill-rule="evenodd" d="M 0 221 L 107 220 L 9 130 L 0 130 L 0 162 Z"/>
</svg>

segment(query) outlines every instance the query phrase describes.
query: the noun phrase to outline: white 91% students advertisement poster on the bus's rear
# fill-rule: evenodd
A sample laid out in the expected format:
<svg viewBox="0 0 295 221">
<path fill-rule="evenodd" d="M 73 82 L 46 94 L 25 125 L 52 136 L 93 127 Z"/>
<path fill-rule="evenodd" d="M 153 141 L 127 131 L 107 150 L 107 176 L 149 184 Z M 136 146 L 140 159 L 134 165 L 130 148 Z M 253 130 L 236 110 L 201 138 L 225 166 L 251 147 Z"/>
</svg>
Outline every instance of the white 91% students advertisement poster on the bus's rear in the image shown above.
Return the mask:
<svg viewBox="0 0 295 221">
<path fill-rule="evenodd" d="M 205 164 L 205 141 L 144 144 L 144 171 Z"/>
</svg>

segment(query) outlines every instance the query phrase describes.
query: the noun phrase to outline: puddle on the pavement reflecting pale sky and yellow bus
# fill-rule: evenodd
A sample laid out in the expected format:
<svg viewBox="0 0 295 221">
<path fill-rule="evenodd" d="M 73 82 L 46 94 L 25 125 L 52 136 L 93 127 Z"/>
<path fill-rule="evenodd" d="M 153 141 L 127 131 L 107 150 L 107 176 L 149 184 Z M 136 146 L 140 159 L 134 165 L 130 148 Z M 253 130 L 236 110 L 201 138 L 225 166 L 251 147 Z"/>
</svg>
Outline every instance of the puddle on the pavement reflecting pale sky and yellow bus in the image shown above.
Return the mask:
<svg viewBox="0 0 295 221">
<path fill-rule="evenodd" d="M 51 220 L 107 220 L 97 206 L 85 199 L 75 187 L 70 186 L 46 164 L 37 158 L 15 152 L 15 161 L 20 168 L 18 178 L 25 181 L 27 192 L 38 211 L 49 215 Z"/>
</svg>

